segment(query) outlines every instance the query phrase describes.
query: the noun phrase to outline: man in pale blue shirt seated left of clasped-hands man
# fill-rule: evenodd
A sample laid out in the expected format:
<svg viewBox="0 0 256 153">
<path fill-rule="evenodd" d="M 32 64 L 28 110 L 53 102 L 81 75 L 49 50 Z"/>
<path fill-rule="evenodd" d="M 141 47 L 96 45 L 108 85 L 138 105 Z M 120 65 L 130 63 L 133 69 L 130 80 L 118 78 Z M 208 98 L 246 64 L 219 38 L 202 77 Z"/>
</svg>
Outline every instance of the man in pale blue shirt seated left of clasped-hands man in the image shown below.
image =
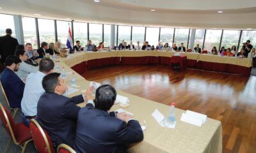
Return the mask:
<svg viewBox="0 0 256 153">
<path fill-rule="evenodd" d="M 38 99 L 44 94 L 42 80 L 45 75 L 52 73 L 54 62 L 51 59 L 42 59 L 39 63 L 39 70 L 30 73 L 26 78 L 23 98 L 21 100 L 21 110 L 24 114 L 23 122 L 29 126 L 28 122 L 35 119 L 37 114 Z"/>
</svg>

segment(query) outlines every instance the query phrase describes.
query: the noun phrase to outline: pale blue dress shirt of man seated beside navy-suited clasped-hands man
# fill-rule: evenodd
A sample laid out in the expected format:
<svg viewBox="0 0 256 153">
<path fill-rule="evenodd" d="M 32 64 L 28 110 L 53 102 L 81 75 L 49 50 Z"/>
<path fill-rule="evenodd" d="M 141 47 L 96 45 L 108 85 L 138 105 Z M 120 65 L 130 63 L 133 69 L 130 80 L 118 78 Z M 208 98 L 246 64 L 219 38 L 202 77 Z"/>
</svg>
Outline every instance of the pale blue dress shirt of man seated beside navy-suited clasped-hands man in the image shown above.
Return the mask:
<svg viewBox="0 0 256 153">
<path fill-rule="evenodd" d="M 21 109 L 26 116 L 35 116 L 37 114 L 38 100 L 45 92 L 42 86 L 44 76 L 44 73 L 37 71 L 36 73 L 30 73 L 26 79 L 23 98 L 21 100 Z"/>
</svg>

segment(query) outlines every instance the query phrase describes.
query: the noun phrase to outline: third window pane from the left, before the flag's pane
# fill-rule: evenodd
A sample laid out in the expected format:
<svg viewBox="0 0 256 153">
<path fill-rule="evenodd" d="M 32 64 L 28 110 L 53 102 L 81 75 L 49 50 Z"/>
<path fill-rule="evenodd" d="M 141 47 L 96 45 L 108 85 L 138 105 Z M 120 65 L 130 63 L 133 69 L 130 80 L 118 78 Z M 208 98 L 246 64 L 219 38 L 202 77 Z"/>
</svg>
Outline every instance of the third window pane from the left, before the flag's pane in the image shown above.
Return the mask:
<svg viewBox="0 0 256 153">
<path fill-rule="evenodd" d="M 47 43 L 55 42 L 54 20 L 38 18 L 39 41 Z"/>
</svg>

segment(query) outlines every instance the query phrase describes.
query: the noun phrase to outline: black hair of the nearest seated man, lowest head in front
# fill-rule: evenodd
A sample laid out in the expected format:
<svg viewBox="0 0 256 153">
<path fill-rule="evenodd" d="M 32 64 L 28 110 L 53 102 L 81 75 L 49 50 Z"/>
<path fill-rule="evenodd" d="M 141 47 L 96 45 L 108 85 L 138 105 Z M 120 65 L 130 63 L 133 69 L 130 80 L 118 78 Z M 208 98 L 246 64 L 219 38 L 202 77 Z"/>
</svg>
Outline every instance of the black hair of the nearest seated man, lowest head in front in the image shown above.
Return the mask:
<svg viewBox="0 0 256 153">
<path fill-rule="evenodd" d="M 101 85 L 95 94 L 95 108 L 108 111 L 116 100 L 116 90 L 111 85 Z"/>
</svg>

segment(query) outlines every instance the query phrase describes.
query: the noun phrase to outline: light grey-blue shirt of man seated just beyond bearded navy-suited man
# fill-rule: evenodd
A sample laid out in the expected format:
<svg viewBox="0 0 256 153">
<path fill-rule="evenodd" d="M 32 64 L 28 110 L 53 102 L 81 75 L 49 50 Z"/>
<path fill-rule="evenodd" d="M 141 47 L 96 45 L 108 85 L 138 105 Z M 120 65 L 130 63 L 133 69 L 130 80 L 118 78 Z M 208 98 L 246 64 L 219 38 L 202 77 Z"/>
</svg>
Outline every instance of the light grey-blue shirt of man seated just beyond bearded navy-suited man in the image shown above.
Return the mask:
<svg viewBox="0 0 256 153">
<path fill-rule="evenodd" d="M 28 77 L 29 73 L 33 73 L 36 71 L 38 71 L 38 66 L 32 66 L 27 64 L 24 61 L 21 61 L 19 70 L 16 71 L 15 73 L 19 76 L 21 80 L 24 80 L 26 77 Z"/>
</svg>

